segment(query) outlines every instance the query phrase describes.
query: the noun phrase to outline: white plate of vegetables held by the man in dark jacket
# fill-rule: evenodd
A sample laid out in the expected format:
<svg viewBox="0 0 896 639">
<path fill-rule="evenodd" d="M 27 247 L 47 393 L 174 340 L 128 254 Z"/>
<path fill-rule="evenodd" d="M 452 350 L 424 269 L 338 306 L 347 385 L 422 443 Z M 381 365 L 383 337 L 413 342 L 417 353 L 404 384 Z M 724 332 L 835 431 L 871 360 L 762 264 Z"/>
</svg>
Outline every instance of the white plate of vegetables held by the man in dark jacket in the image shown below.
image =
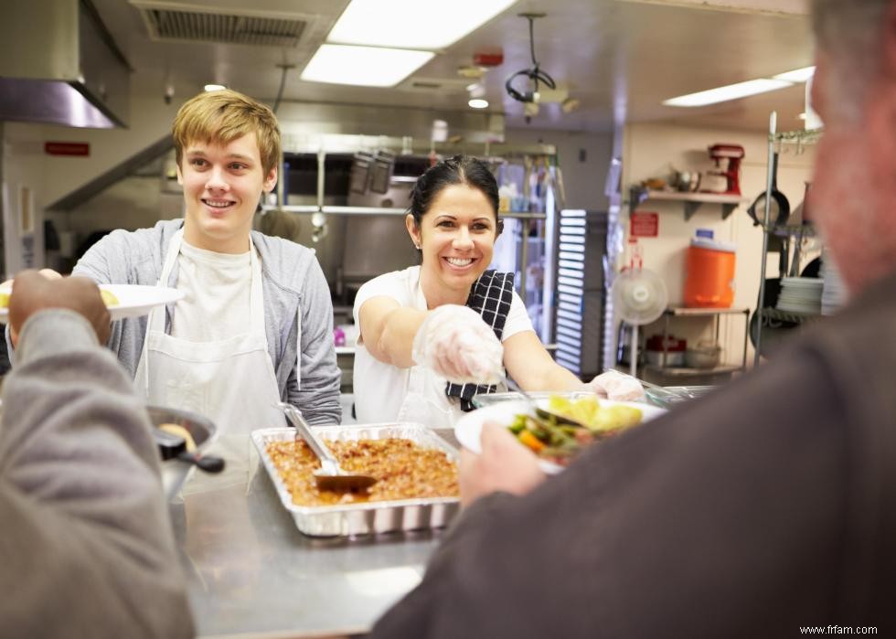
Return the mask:
<svg viewBox="0 0 896 639">
<path fill-rule="evenodd" d="M 479 434 L 486 421 L 503 424 L 517 441 L 539 456 L 546 473 L 559 473 L 594 442 L 652 420 L 666 412 L 634 401 L 571 399 L 561 395 L 536 399 L 540 415 L 528 401 L 504 401 L 466 413 L 454 424 L 454 435 L 464 448 L 479 453 Z"/>
</svg>

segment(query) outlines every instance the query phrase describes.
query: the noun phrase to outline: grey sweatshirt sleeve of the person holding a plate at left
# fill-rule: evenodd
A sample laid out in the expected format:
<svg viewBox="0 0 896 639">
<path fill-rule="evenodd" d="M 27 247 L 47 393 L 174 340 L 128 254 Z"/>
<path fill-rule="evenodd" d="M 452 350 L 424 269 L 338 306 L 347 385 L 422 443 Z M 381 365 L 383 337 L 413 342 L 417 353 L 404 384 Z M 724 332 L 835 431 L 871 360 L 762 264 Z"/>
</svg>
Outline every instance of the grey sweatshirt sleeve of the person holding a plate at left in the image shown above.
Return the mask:
<svg viewBox="0 0 896 639">
<path fill-rule="evenodd" d="M 149 428 L 79 314 L 28 320 L 3 388 L 0 635 L 193 635 Z"/>
</svg>

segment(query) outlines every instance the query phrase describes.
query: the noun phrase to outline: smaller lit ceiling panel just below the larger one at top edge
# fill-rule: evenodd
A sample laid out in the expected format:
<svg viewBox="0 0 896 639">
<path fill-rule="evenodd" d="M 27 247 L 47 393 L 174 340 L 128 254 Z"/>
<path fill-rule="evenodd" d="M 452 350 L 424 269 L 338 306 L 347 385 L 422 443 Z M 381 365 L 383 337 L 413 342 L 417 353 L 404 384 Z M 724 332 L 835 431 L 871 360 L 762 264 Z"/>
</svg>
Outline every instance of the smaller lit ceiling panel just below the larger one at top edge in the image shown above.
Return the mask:
<svg viewBox="0 0 896 639">
<path fill-rule="evenodd" d="M 404 48 L 321 45 L 302 71 L 302 80 L 394 87 L 432 59 L 432 51 Z"/>
</svg>

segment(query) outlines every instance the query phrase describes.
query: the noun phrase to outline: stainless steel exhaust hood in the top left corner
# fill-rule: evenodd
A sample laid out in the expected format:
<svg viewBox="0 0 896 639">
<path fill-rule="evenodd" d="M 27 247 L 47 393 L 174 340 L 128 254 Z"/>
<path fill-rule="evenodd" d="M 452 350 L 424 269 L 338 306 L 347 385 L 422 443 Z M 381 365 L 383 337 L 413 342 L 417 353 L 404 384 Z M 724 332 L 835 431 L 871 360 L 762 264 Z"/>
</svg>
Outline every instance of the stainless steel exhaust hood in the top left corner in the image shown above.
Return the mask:
<svg viewBox="0 0 896 639">
<path fill-rule="evenodd" d="M 127 126 L 130 74 L 90 0 L 3 3 L 0 121 Z"/>
</svg>

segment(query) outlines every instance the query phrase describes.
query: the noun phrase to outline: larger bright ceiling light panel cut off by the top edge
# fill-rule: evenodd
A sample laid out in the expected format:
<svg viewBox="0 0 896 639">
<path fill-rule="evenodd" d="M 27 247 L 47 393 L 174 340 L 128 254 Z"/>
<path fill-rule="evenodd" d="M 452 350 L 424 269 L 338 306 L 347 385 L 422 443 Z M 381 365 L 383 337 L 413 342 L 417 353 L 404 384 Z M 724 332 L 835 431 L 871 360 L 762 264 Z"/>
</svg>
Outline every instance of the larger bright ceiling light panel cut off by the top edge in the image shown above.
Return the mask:
<svg viewBox="0 0 896 639">
<path fill-rule="evenodd" d="M 369 47 L 445 48 L 517 0 L 352 0 L 327 42 Z"/>
</svg>

